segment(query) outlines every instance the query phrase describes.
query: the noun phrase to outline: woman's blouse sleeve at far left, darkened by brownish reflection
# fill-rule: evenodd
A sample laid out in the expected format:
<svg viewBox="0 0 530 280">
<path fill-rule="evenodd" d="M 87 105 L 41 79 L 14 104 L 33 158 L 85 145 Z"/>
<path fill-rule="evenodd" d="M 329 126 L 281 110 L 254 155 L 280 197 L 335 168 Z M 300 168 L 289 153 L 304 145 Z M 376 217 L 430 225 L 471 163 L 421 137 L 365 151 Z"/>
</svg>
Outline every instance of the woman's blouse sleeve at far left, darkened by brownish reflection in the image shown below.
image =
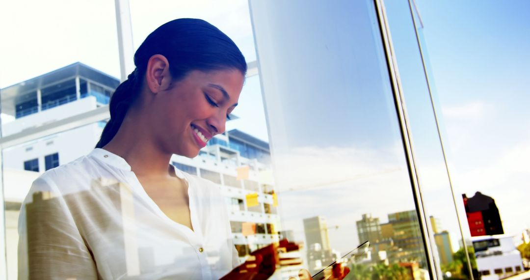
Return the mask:
<svg viewBox="0 0 530 280">
<path fill-rule="evenodd" d="M 65 199 L 38 178 L 19 216 L 19 279 L 95 279 L 98 273 Z"/>
</svg>

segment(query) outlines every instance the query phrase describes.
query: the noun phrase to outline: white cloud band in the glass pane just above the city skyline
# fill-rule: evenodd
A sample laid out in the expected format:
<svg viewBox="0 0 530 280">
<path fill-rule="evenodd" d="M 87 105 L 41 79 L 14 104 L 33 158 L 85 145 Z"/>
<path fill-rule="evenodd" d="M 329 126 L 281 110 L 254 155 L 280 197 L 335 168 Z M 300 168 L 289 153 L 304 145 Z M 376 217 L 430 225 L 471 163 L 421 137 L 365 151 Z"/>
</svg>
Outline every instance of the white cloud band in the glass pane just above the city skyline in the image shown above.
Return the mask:
<svg viewBox="0 0 530 280">
<path fill-rule="evenodd" d="M 332 247 L 350 250 L 358 243 L 355 221 L 372 213 L 386 222 L 387 214 L 415 209 L 402 151 L 391 147 L 299 147 L 275 155 L 275 178 L 284 229 L 304 239 L 302 220 L 323 216 Z"/>
</svg>

